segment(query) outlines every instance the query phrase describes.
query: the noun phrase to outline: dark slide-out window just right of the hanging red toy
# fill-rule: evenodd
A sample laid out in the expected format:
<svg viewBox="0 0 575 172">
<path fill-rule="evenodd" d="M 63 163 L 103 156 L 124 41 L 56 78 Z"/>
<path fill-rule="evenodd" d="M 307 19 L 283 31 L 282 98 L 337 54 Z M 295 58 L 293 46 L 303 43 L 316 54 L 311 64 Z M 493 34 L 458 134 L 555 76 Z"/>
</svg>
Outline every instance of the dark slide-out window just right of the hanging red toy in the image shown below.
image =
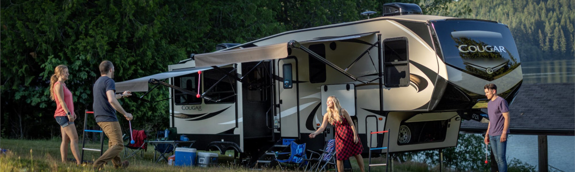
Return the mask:
<svg viewBox="0 0 575 172">
<path fill-rule="evenodd" d="M 225 71 L 228 71 L 228 72 L 233 70 L 232 67 L 223 67 L 222 69 Z M 202 75 L 204 75 L 204 83 L 202 83 L 202 85 L 204 85 L 203 91 L 207 91 L 207 92 L 205 92 L 204 95 L 206 97 L 212 98 L 213 100 L 220 100 L 222 98 L 225 98 L 225 99 L 221 100 L 220 102 L 204 101 L 205 104 L 228 104 L 228 103 L 233 103 L 236 101 L 236 97 L 231 96 L 231 95 L 236 94 L 236 91 L 235 91 L 236 80 L 235 79 L 230 78 L 227 75 L 225 75 L 224 73 L 222 73 L 222 71 L 218 71 L 215 69 L 206 70 L 206 71 L 202 72 Z M 220 81 L 221 78 L 224 78 L 224 79 L 222 79 L 220 83 L 216 84 L 216 82 Z M 212 90 L 208 91 L 208 89 L 212 86 L 213 86 Z M 204 93 L 204 92 L 202 92 L 202 93 Z"/>
</svg>

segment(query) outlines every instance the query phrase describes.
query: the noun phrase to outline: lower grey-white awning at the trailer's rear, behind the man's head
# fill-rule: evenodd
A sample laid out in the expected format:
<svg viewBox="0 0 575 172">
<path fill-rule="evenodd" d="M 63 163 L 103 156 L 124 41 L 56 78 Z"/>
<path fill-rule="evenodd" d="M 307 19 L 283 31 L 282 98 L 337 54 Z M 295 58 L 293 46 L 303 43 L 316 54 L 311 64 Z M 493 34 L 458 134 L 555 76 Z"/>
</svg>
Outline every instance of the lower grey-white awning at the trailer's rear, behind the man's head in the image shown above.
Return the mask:
<svg viewBox="0 0 575 172">
<path fill-rule="evenodd" d="M 183 70 L 174 70 L 169 72 L 163 72 L 155 75 L 150 75 L 148 77 L 136 78 L 128 81 L 122 81 L 116 83 L 116 93 L 124 92 L 126 90 L 132 92 L 143 92 L 148 91 L 148 80 L 151 78 L 162 80 L 166 78 L 178 77 L 181 75 L 187 75 L 198 71 L 209 70 L 212 67 L 193 67 Z"/>
</svg>

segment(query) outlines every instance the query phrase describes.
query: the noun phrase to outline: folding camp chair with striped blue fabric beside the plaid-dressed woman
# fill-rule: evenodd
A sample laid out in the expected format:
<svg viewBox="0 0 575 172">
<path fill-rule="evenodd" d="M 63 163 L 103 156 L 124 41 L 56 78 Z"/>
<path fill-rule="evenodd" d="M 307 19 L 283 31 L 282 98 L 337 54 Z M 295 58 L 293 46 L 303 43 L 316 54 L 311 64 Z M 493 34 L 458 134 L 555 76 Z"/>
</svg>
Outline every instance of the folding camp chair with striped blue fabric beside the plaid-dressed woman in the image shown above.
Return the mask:
<svg viewBox="0 0 575 172">
<path fill-rule="evenodd" d="M 312 155 L 310 155 L 310 157 L 313 156 L 313 154 L 318 155 L 318 158 L 306 159 L 306 160 L 308 160 L 308 162 L 315 162 L 309 168 L 310 171 L 324 171 L 324 170 L 326 170 L 325 167 L 327 165 L 333 165 L 333 166 L 336 165 L 336 162 L 335 162 L 335 139 L 328 140 L 327 144 L 325 144 L 324 150 L 320 150 L 320 151 L 321 151 L 321 154 L 319 154 L 318 152 L 309 151 L 312 153 Z M 308 165 L 305 166 L 305 171 L 308 170 L 309 165 L 310 164 L 308 163 Z"/>
</svg>

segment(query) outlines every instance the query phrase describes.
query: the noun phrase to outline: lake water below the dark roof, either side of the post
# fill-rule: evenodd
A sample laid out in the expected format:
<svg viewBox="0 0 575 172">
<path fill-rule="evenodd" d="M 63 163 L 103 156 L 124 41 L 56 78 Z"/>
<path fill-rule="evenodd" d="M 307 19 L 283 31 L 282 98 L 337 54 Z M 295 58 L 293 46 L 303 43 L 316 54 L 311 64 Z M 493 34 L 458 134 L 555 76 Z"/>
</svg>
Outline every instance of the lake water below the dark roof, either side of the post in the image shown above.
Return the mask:
<svg viewBox="0 0 575 172">
<path fill-rule="evenodd" d="M 575 171 L 575 136 L 547 136 L 549 166 L 561 171 Z M 510 135 L 507 143 L 507 162 L 516 158 L 538 167 L 537 136 Z"/>
</svg>

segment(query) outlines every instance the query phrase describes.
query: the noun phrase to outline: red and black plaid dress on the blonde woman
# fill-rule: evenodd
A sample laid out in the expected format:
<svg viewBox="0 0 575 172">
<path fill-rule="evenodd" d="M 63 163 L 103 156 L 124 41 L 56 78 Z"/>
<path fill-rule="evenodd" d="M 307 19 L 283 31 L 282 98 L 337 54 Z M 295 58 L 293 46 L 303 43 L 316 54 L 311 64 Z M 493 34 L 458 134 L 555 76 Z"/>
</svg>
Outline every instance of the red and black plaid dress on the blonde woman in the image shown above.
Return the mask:
<svg viewBox="0 0 575 172">
<path fill-rule="evenodd" d="M 358 143 L 354 143 L 354 131 L 351 129 L 350 123 L 347 123 L 347 119 L 343 115 L 339 117 L 342 118 L 341 123 L 335 123 L 336 159 L 347 160 L 350 156 L 361 154 L 363 146 L 359 138 Z"/>
</svg>

